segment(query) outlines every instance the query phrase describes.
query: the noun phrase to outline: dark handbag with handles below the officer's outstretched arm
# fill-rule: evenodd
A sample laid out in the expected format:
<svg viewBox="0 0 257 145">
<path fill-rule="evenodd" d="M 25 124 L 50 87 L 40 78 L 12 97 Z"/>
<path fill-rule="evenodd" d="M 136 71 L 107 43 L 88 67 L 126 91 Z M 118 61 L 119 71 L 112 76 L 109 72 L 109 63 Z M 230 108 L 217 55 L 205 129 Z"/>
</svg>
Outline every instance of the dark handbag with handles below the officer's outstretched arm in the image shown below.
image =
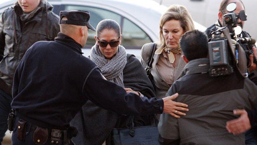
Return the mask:
<svg viewBox="0 0 257 145">
<path fill-rule="evenodd" d="M 112 141 L 114 145 L 159 145 L 157 116 L 154 114 L 156 125 L 134 127 L 134 116 L 131 116 L 129 128 L 114 128 Z"/>
</svg>

